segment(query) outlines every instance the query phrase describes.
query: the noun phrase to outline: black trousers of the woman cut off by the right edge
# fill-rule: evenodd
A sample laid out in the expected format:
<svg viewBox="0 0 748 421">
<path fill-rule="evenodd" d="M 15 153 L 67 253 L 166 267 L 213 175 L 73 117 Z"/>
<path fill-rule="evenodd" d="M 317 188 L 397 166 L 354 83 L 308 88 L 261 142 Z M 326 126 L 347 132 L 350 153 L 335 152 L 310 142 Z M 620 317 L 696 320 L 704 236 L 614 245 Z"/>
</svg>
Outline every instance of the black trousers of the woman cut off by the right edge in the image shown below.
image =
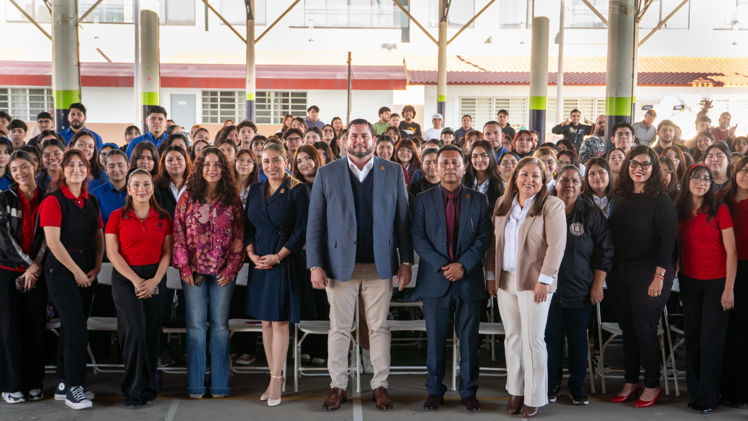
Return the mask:
<svg viewBox="0 0 748 421">
<path fill-rule="evenodd" d="M 738 260 L 735 276 L 735 308 L 730 310 L 725 340 L 722 396 L 730 402 L 748 403 L 748 260 Z"/>
</svg>

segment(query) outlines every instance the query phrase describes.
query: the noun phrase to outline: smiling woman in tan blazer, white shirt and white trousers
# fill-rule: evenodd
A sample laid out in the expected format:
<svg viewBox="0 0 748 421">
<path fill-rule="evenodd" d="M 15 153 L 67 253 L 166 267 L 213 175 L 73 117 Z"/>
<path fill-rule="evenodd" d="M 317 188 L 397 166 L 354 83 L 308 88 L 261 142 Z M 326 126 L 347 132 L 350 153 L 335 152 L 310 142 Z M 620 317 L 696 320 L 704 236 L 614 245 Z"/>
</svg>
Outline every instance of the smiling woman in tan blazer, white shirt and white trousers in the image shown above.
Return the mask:
<svg viewBox="0 0 748 421">
<path fill-rule="evenodd" d="M 486 288 L 497 297 L 506 331 L 506 411 L 526 418 L 548 403 L 545 323 L 566 246 L 564 203 L 548 196 L 547 186 L 541 160 L 517 164 L 496 202 L 485 265 Z"/>
</svg>

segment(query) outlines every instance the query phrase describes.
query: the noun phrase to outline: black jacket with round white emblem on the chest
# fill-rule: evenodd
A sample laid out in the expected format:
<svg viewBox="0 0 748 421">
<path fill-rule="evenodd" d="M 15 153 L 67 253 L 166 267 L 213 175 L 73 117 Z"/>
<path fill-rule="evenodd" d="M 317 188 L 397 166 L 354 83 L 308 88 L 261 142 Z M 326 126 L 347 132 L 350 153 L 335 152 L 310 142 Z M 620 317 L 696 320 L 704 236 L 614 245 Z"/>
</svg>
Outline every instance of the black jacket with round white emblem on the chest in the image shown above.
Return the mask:
<svg viewBox="0 0 748 421">
<path fill-rule="evenodd" d="M 566 227 L 566 249 L 553 299 L 560 300 L 562 307 L 590 306 L 595 270 L 607 273 L 613 267 L 613 234 L 601 210 L 581 197 L 566 215 Z"/>
</svg>

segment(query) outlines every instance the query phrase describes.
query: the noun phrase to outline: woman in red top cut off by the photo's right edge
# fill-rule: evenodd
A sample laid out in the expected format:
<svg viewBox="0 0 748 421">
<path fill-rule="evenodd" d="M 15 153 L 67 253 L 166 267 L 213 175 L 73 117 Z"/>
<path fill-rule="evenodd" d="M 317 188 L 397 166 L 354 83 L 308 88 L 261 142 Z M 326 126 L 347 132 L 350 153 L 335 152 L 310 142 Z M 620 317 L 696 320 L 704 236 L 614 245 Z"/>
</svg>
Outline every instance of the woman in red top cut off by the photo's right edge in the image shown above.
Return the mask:
<svg viewBox="0 0 748 421">
<path fill-rule="evenodd" d="M 722 397 L 732 405 L 748 408 L 748 157 L 735 164 L 730 181 L 725 189 L 717 193 L 732 214 L 735 225 L 735 246 L 738 250 L 738 270 L 735 277 L 744 279 L 735 282 L 735 308 L 730 311 L 725 340 Z"/>
</svg>

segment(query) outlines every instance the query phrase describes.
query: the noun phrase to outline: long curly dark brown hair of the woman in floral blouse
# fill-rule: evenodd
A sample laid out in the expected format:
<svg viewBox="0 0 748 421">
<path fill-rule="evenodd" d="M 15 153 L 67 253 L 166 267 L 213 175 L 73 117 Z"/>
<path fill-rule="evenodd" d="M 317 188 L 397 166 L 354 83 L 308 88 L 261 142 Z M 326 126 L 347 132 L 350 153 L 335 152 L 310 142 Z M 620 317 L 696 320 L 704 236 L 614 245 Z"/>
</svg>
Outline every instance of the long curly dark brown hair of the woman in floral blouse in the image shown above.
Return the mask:
<svg viewBox="0 0 748 421">
<path fill-rule="evenodd" d="M 218 157 L 218 166 L 221 167 L 221 180 L 218 181 L 218 187 L 215 189 L 216 200 L 218 203 L 224 206 L 231 206 L 237 199 L 239 199 L 239 192 L 236 191 L 236 178 L 233 175 L 233 169 L 229 166 L 229 160 L 226 154 L 221 152 L 220 149 L 215 146 L 208 146 L 207 148 L 200 151 L 200 155 L 194 160 L 194 171 L 189 175 L 187 179 L 186 187 L 192 199 L 196 200 L 200 204 L 207 203 L 205 191 L 208 188 L 208 184 L 203 178 L 203 166 L 205 165 L 205 158 L 209 154 L 214 154 Z"/>
</svg>

